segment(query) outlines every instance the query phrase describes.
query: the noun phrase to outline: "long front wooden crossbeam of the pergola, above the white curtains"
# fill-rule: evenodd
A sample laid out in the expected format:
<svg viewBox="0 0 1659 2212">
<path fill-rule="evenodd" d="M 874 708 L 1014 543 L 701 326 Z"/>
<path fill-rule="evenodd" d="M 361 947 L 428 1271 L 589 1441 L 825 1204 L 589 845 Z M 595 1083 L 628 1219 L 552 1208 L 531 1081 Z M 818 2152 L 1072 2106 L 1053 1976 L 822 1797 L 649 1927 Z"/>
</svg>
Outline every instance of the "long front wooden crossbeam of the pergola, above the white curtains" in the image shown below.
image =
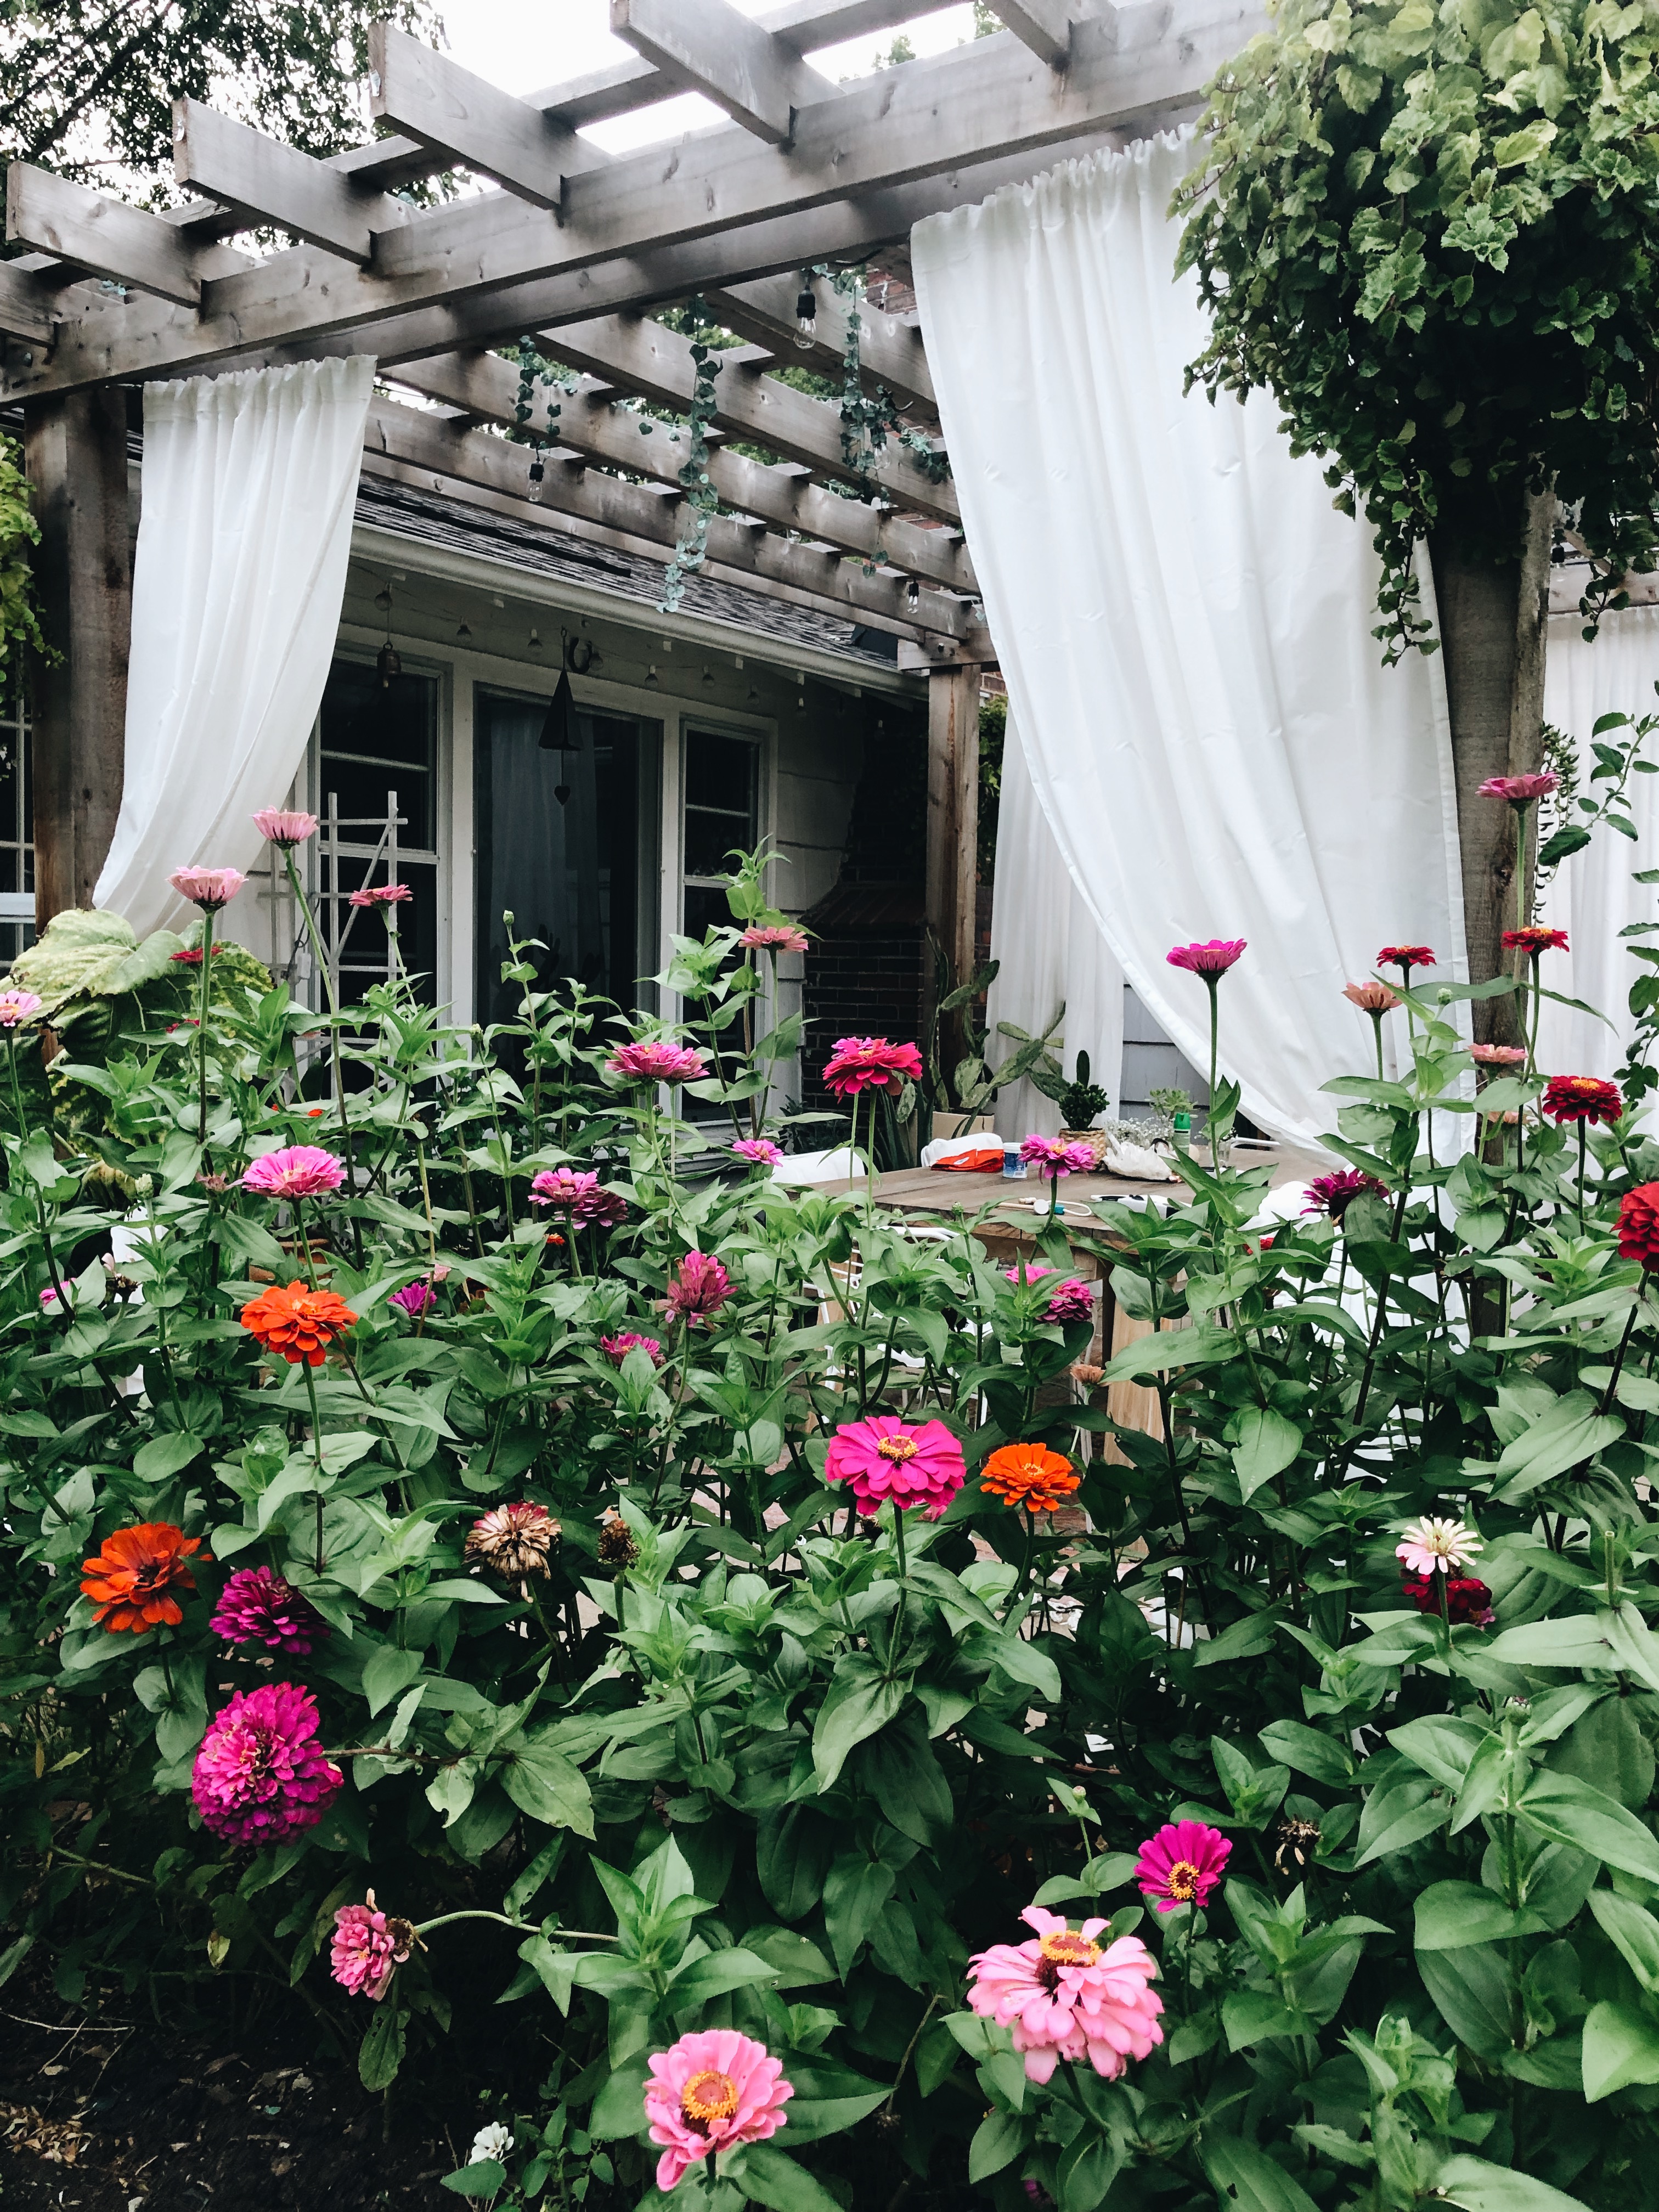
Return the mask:
<svg viewBox="0 0 1659 2212">
<path fill-rule="evenodd" d="M 9 363 L 7 394 L 188 372 L 228 352 L 272 345 L 314 349 L 314 341 L 332 334 L 367 332 L 418 307 L 449 310 L 544 279 L 568 279 L 566 312 L 575 314 L 584 274 L 599 263 L 637 261 L 821 206 L 856 206 L 869 192 L 949 177 L 962 164 L 1161 117 L 1194 100 L 1254 29 L 1254 0 L 1192 0 L 1192 7 L 1194 15 L 1175 27 L 1161 9 L 1146 9 L 1157 24 L 1137 22 L 1141 11 L 1077 24 L 1071 66 L 1060 77 L 1009 35 L 883 71 L 801 108 L 790 148 L 765 146 L 745 131 L 710 131 L 568 177 L 557 217 L 504 195 L 427 212 L 405 208 L 407 221 L 376 234 L 369 268 L 341 270 L 334 254 L 319 261 L 314 248 L 296 248 L 206 283 L 197 316 L 157 301 L 124 301 L 108 316 L 77 294 L 77 314 L 64 323 L 53 358 Z M 299 210 L 283 208 L 270 219 L 288 226 Z M 854 219 L 847 228 L 860 226 Z M 710 279 L 763 274 L 787 268 L 790 259 L 783 241 L 770 259 L 737 270 L 721 270 L 719 254 L 688 257 Z M 650 288 L 635 296 L 650 296 Z"/>
</svg>

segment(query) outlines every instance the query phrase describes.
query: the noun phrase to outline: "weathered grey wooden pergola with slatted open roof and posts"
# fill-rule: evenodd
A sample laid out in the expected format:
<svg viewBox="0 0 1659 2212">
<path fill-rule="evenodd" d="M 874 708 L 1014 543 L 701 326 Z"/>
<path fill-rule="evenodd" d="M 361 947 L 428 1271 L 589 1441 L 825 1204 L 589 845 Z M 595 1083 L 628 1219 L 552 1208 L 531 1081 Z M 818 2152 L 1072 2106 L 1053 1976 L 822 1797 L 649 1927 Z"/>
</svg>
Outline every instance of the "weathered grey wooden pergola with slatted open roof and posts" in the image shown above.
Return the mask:
<svg viewBox="0 0 1659 2212">
<path fill-rule="evenodd" d="M 993 650 L 956 491 L 896 440 L 849 469 L 841 409 L 768 372 L 838 374 L 856 312 L 865 387 L 936 420 L 914 323 L 818 281 L 812 345 L 796 349 L 801 272 L 883 257 L 902 270 L 920 217 L 1192 113 L 1261 13 L 1254 0 L 998 0 L 1004 33 L 933 60 L 845 86 L 807 60 L 942 4 L 785 0 L 754 20 L 728 0 L 611 0 L 635 58 L 526 100 L 380 24 L 369 93 L 392 135 L 374 144 L 319 161 L 181 100 L 175 173 L 197 197 L 166 215 L 11 166 L 7 232 L 27 252 L 0 263 L 0 394 L 24 411 L 42 617 L 62 653 L 35 684 L 40 925 L 91 905 L 122 796 L 124 387 L 367 352 L 385 385 L 420 400 L 376 398 L 369 473 L 520 515 L 540 507 L 564 531 L 661 560 L 686 447 L 641 436 L 637 403 L 684 414 L 695 361 L 648 310 L 701 294 L 748 341 L 721 356 L 714 431 L 783 456 L 712 447 L 721 513 L 706 568 L 896 633 L 900 661 L 929 670 L 927 914 L 969 973 L 978 686 Z M 730 122 L 626 157 L 580 135 L 681 91 Z M 495 188 L 400 197 L 456 168 Z M 263 259 L 226 243 L 250 228 L 292 243 Z M 582 372 L 538 482 L 498 429 L 520 378 L 491 347 L 524 336 Z"/>
</svg>

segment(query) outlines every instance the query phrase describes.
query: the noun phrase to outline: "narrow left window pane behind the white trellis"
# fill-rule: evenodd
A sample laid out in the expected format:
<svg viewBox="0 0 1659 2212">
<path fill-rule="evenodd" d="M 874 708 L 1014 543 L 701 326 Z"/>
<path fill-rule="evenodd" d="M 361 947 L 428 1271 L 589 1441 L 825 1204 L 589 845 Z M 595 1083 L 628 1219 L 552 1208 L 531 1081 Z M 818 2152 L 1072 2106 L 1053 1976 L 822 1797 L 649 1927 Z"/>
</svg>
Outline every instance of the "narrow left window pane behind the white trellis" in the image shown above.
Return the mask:
<svg viewBox="0 0 1659 2212">
<path fill-rule="evenodd" d="M 396 814 L 396 823 L 392 816 Z M 341 998 L 387 975 L 380 916 L 349 905 L 369 883 L 407 883 L 398 949 L 427 1004 L 438 995 L 438 679 L 334 661 L 316 750 L 319 836 L 310 852 L 319 927 L 341 945 Z M 330 830 L 330 821 L 334 830 Z"/>
</svg>

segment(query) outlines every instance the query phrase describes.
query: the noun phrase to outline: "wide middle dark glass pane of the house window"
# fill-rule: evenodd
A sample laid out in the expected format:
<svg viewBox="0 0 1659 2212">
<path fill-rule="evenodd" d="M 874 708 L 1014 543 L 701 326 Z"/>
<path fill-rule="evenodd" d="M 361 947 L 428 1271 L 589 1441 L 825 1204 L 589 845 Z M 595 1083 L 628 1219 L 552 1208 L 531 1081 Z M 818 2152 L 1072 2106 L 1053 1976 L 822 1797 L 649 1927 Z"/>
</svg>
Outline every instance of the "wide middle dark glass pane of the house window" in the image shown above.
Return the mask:
<svg viewBox="0 0 1659 2212">
<path fill-rule="evenodd" d="M 502 984 L 504 914 L 535 938 L 544 980 L 573 975 L 619 1006 L 648 1000 L 657 964 L 661 723 L 577 710 L 580 743 L 542 750 L 546 699 L 480 690 L 473 714 L 478 823 L 478 1018 L 518 1013 Z"/>
</svg>

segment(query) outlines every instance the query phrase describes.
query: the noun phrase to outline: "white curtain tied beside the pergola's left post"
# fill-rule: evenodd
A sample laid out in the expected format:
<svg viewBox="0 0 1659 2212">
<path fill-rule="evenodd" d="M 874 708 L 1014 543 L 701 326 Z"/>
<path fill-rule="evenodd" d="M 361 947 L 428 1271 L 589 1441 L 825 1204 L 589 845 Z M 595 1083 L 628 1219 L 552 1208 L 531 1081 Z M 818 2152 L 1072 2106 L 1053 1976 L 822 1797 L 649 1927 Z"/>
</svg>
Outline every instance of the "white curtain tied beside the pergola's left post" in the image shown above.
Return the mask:
<svg viewBox="0 0 1659 2212">
<path fill-rule="evenodd" d="M 144 392 L 126 783 L 95 902 L 144 936 L 190 909 L 175 867 L 248 869 L 323 699 L 374 361 Z"/>
</svg>

